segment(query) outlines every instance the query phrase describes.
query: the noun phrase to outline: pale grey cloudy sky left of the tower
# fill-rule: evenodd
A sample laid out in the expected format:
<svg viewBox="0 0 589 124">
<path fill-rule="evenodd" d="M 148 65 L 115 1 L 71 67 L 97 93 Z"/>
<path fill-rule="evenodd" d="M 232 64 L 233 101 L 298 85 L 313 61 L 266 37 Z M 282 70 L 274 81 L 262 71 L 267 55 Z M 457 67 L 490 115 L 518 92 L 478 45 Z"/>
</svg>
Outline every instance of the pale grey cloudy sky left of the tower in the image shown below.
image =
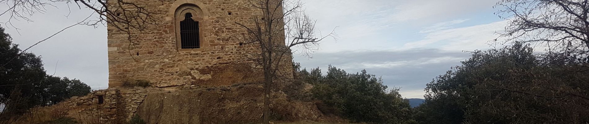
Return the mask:
<svg viewBox="0 0 589 124">
<path fill-rule="evenodd" d="M 11 35 L 12 42 L 24 50 L 67 26 L 77 24 L 92 13 L 84 8 L 71 8 L 70 12 L 67 5 L 55 5 L 59 9 L 47 8 L 45 14 L 29 17 L 35 22 L 12 20 L 11 23 L 20 29 L 18 32 L 7 24 L 1 26 Z M 8 21 L 8 18 L 2 15 L 0 22 Z M 73 26 L 27 52 L 42 56 L 49 75 L 55 73 L 55 76 L 80 79 L 92 89 L 108 88 L 107 29 L 104 26 Z"/>
</svg>

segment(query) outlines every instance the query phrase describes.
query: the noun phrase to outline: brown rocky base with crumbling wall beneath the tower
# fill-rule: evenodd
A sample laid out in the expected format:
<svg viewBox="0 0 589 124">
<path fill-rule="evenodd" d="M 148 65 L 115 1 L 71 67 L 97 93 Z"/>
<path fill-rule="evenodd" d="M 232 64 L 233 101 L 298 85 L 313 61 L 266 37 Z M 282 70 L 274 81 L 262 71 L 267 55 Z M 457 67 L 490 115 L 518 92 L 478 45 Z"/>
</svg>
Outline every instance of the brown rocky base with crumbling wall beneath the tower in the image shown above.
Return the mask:
<svg viewBox="0 0 589 124">
<path fill-rule="evenodd" d="M 139 115 L 147 123 L 259 123 L 262 121 L 263 88 L 260 84 L 203 88 L 117 87 L 74 96 L 57 105 L 35 110 L 64 110 L 65 116 L 84 123 L 128 123 Z M 274 120 L 339 121 L 325 116 L 315 103 L 287 100 L 273 92 L 270 108 Z M 334 119 L 335 118 L 335 119 Z"/>
</svg>

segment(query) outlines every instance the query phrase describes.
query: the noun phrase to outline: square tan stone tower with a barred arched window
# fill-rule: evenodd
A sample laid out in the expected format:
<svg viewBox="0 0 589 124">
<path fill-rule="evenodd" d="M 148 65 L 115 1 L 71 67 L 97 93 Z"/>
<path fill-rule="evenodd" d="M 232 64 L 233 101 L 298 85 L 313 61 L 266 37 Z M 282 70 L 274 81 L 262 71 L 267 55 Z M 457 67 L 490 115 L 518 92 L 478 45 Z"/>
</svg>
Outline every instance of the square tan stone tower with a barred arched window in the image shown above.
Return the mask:
<svg viewBox="0 0 589 124">
<path fill-rule="evenodd" d="M 162 12 L 155 16 L 165 26 L 133 32 L 136 38 L 130 42 L 126 32 L 108 25 L 109 87 L 135 79 L 157 87 L 263 81 L 261 71 L 243 57 L 254 46 L 243 45 L 237 38 L 247 32 L 235 22 L 252 25 L 252 17 L 263 14 L 247 0 L 135 2 Z M 290 66 L 290 56 L 285 58 L 284 65 Z"/>
</svg>

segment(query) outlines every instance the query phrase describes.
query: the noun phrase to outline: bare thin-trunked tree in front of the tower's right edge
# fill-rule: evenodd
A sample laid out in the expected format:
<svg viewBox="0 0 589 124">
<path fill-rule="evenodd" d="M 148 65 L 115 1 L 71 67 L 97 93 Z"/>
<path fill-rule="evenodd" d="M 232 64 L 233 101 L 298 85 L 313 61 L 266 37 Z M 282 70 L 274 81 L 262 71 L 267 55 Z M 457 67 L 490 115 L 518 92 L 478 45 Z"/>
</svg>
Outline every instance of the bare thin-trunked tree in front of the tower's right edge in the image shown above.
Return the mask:
<svg viewBox="0 0 589 124">
<path fill-rule="evenodd" d="M 253 25 L 237 25 L 246 28 L 244 45 L 253 45 L 257 51 L 246 53 L 247 58 L 263 69 L 264 112 L 263 123 L 270 120 L 270 92 L 276 79 L 288 78 L 281 62 L 290 58 L 291 48 L 297 47 L 303 55 L 317 51 L 317 45 L 325 38 L 336 38 L 334 31 L 328 35 L 316 34 L 315 21 L 303 12 L 303 3 L 288 0 L 251 0 L 263 14 L 254 16 Z M 290 70 L 292 71 L 292 70 Z"/>
</svg>

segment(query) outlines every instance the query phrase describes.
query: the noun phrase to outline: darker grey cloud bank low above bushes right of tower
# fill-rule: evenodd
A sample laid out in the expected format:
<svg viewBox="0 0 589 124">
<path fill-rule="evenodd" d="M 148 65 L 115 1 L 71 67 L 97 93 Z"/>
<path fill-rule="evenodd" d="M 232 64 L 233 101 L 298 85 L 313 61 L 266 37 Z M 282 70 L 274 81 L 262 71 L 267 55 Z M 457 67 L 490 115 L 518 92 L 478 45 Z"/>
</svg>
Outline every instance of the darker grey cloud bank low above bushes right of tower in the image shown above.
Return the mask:
<svg viewBox="0 0 589 124">
<path fill-rule="evenodd" d="M 404 97 L 422 98 L 425 84 L 468 58 L 464 52 L 441 49 L 408 49 L 403 51 L 343 51 L 316 53 L 312 59 L 295 56 L 304 68 L 327 69 L 333 65 L 348 73 L 366 69 L 368 73 L 382 76 L 385 85 L 401 87 Z M 325 73 L 324 73 L 325 74 Z M 417 97 L 419 96 L 419 97 Z"/>
</svg>

